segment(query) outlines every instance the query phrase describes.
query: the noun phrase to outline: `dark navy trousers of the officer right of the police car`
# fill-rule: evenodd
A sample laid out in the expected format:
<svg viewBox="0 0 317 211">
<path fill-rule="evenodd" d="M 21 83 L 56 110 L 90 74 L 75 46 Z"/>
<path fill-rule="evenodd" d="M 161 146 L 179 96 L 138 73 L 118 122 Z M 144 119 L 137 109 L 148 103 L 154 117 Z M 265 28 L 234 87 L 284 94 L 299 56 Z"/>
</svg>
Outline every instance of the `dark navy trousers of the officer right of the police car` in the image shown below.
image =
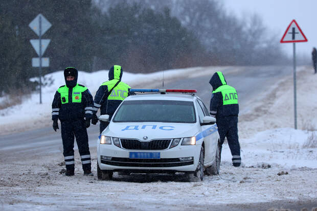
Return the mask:
<svg viewBox="0 0 317 211">
<path fill-rule="evenodd" d="M 220 155 L 224 138 L 227 137 L 234 165 L 240 166 L 240 144 L 238 139 L 238 116 L 230 115 L 217 118 L 218 133 L 220 136 Z M 235 164 L 236 163 L 236 164 Z"/>
</svg>

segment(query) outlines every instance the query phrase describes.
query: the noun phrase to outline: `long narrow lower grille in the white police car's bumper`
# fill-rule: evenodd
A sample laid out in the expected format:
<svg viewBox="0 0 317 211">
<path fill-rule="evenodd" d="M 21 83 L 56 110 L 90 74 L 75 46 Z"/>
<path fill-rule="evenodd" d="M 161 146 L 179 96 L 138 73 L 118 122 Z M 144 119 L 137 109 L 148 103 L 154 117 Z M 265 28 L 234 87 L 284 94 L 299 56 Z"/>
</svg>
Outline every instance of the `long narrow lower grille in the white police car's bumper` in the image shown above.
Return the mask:
<svg viewBox="0 0 317 211">
<path fill-rule="evenodd" d="M 123 157 L 112 157 L 111 160 L 101 159 L 101 163 L 118 167 L 180 167 L 193 165 L 194 160 L 179 161 L 178 158 L 131 159 Z"/>
</svg>

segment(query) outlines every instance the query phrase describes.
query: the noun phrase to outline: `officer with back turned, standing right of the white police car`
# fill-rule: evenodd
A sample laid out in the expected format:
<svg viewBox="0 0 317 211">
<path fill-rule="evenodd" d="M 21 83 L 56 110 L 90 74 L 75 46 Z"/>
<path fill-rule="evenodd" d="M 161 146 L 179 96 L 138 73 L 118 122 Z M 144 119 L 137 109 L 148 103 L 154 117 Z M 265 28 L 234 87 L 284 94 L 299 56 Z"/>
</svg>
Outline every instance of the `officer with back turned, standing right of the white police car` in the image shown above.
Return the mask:
<svg viewBox="0 0 317 211">
<path fill-rule="evenodd" d="M 234 87 L 227 85 L 223 74 L 216 72 L 210 79 L 213 92 L 210 100 L 210 114 L 217 120 L 220 136 L 220 155 L 224 138 L 227 137 L 232 154 L 233 166 L 241 164 L 240 145 L 238 140 L 238 94 Z"/>
</svg>

